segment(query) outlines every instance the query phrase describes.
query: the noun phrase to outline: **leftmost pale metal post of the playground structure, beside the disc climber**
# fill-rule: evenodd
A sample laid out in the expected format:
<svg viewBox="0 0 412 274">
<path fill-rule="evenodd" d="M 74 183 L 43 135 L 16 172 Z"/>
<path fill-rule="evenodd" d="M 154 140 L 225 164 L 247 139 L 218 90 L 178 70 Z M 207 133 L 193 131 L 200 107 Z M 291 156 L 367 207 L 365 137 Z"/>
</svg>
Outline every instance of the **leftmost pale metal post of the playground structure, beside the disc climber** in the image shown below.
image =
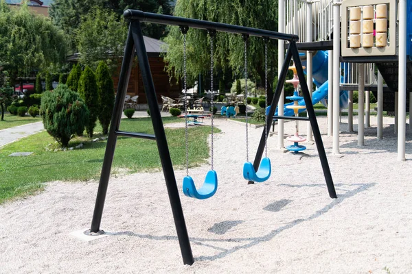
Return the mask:
<svg viewBox="0 0 412 274">
<path fill-rule="evenodd" d="M 286 23 L 285 23 L 285 0 L 279 0 L 279 20 L 277 25 L 279 25 L 279 32 L 284 32 Z M 285 59 L 285 42 L 284 40 L 277 41 L 277 85 L 279 85 L 280 73 L 282 71 L 282 66 L 284 65 Z M 277 115 L 284 115 L 284 86 L 282 85 L 281 95 L 279 97 L 279 104 L 277 105 Z M 276 105 L 275 105 L 276 106 Z M 277 120 L 277 148 L 284 149 L 284 121 Z"/>
</svg>

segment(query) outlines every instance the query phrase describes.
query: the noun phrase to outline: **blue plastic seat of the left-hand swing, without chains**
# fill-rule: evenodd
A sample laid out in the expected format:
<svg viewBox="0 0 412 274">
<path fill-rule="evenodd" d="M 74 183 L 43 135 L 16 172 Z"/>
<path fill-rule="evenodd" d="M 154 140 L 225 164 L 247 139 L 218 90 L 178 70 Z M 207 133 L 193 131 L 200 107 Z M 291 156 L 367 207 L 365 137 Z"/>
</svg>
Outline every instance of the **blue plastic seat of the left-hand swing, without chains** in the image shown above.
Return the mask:
<svg viewBox="0 0 412 274">
<path fill-rule="evenodd" d="M 200 189 L 196 189 L 192 177 L 186 176 L 183 178 L 183 193 L 187 197 L 194 199 L 207 199 L 212 197 L 218 190 L 218 175 L 216 171 L 209 171 L 206 175 L 205 182 Z"/>
</svg>

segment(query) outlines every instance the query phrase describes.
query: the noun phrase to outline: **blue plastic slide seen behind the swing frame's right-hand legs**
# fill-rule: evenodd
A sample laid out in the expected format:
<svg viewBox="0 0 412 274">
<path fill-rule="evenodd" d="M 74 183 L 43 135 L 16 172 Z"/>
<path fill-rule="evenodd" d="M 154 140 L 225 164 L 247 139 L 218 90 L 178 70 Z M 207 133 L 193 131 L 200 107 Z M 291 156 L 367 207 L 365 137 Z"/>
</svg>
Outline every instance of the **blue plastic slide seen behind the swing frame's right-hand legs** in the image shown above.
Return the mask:
<svg viewBox="0 0 412 274">
<path fill-rule="evenodd" d="M 306 60 L 302 61 L 302 65 L 306 66 Z M 305 71 L 306 72 L 306 71 Z M 317 90 L 312 93 L 312 104 L 319 103 L 323 99 L 328 98 L 328 51 L 317 51 L 312 58 L 312 75 L 313 82 L 317 86 Z M 344 78 L 341 76 L 341 78 Z M 340 108 L 347 108 L 347 90 L 341 90 L 341 98 L 339 100 Z M 305 100 L 298 101 L 299 105 L 305 105 Z M 285 103 L 284 116 L 294 116 L 293 110 L 286 108 L 287 105 L 293 105 L 291 103 Z M 299 112 L 305 112 L 306 109 L 299 110 Z M 266 110 L 268 112 L 268 110 Z M 277 114 L 277 108 L 275 111 Z"/>
</svg>

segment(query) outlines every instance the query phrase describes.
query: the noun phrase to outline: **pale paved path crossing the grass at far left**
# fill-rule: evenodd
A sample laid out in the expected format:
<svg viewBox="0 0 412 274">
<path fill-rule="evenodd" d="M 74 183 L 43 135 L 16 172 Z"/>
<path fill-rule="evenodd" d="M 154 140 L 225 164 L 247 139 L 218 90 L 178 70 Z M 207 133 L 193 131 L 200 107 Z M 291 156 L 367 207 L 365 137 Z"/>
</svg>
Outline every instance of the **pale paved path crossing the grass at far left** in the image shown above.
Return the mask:
<svg viewBox="0 0 412 274">
<path fill-rule="evenodd" d="M 17 127 L 10 127 L 8 129 L 0 130 L 0 147 L 15 142 L 20 138 L 41 132 L 43 129 L 43 122 L 30 123 L 26 125 L 19 125 Z"/>
</svg>

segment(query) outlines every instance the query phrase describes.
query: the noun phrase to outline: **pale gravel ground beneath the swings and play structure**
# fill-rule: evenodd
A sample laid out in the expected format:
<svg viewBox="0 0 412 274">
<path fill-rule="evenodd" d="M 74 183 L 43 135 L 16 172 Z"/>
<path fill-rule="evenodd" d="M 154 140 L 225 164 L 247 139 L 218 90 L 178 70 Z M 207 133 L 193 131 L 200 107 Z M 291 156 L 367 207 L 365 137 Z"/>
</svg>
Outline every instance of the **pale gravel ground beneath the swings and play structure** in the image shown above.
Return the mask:
<svg viewBox="0 0 412 274">
<path fill-rule="evenodd" d="M 319 118 L 323 134 L 326 123 Z M 89 227 L 98 182 L 52 182 L 0 206 L 0 273 L 411 273 L 411 134 L 406 162 L 396 160 L 393 125 L 385 140 L 366 129 L 361 148 L 343 132 L 341 158 L 323 135 L 339 195 L 330 199 L 314 144 L 300 157 L 275 149 L 271 137 L 273 175 L 247 185 L 244 127 L 216 124 L 218 192 L 204 201 L 180 192 L 193 266 L 182 264 L 163 174 L 138 173 L 111 178 L 102 229 L 114 235 L 91 242 L 69 233 Z M 294 125 L 285 123 L 285 132 Z M 261 132 L 249 129 L 251 151 Z M 190 174 L 201 184 L 208 169 Z M 185 172 L 175 174 L 181 190 Z"/>
</svg>

